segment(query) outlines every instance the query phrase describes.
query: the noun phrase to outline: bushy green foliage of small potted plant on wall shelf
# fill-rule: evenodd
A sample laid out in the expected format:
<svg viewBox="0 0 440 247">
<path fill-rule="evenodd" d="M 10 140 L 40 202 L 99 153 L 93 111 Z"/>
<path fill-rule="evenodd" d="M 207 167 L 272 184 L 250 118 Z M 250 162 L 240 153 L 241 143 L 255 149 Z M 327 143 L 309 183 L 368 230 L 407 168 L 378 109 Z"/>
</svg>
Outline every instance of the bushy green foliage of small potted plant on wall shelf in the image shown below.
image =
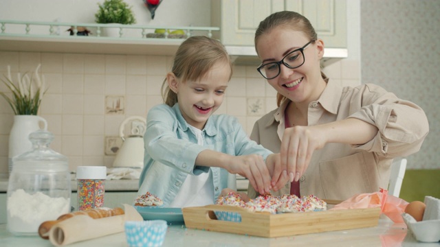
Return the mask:
<svg viewBox="0 0 440 247">
<path fill-rule="evenodd" d="M 105 0 L 98 3 L 99 10 L 95 14 L 96 23 L 120 23 L 124 25 L 136 23 L 131 6 L 122 0 Z"/>
</svg>

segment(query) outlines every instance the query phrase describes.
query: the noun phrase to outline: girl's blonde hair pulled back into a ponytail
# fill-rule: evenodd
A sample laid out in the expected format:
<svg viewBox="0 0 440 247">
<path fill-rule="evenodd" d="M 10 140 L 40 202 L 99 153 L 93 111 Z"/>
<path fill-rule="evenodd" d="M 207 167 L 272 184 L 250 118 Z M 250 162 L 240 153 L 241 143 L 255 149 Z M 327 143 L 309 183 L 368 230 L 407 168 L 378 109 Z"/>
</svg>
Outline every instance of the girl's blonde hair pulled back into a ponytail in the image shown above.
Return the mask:
<svg viewBox="0 0 440 247">
<path fill-rule="evenodd" d="M 217 62 L 227 62 L 230 67 L 229 80 L 232 76 L 232 62 L 228 51 L 219 40 L 206 36 L 187 38 L 177 49 L 171 72 L 181 80 L 197 81 L 206 76 Z M 177 103 L 177 94 L 173 92 L 166 79 L 162 84 L 162 98 L 168 106 Z"/>
</svg>

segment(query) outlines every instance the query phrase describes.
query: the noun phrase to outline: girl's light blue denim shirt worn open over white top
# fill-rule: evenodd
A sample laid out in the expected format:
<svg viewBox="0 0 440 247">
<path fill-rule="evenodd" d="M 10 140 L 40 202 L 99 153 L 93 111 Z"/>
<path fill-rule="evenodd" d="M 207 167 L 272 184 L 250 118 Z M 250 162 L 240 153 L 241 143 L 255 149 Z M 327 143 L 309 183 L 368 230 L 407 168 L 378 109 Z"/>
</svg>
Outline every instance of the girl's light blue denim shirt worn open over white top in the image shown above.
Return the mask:
<svg viewBox="0 0 440 247">
<path fill-rule="evenodd" d="M 239 121 L 230 115 L 209 117 L 202 134 L 204 145 L 197 145 L 197 137 L 188 128 L 178 104 L 173 107 L 160 104 L 151 108 L 146 117 L 144 168 L 137 194 L 149 191 L 164 201 L 164 207 L 168 207 L 188 174 L 197 175 L 211 169 L 214 185 L 212 198 L 215 201 L 221 190 L 228 187 L 230 174 L 219 167 L 196 166 L 195 159 L 201 151 L 210 149 L 234 156 L 260 154 L 264 160 L 272 154 L 252 141 Z"/>
</svg>

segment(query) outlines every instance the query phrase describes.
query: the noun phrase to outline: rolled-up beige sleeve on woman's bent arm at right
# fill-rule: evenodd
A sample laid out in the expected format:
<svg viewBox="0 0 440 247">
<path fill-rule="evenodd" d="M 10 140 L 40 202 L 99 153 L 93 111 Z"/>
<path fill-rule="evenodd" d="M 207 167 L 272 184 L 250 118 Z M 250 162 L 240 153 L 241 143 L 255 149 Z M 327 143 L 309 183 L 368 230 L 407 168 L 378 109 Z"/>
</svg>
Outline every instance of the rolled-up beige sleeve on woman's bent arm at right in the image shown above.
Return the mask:
<svg viewBox="0 0 440 247">
<path fill-rule="evenodd" d="M 368 143 L 353 145 L 353 148 L 388 157 L 408 156 L 419 151 L 429 132 L 424 111 L 380 86 L 365 84 L 358 89 L 351 102 L 361 106 L 349 117 L 373 124 L 379 131 Z"/>
</svg>

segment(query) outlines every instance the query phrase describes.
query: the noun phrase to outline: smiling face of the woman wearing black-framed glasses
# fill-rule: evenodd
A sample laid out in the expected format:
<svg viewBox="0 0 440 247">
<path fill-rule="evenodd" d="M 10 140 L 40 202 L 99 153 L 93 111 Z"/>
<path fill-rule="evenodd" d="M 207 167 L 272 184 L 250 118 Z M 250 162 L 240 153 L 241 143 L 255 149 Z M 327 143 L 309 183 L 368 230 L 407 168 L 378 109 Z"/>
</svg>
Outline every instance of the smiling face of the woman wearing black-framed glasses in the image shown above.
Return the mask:
<svg viewBox="0 0 440 247">
<path fill-rule="evenodd" d="M 303 32 L 292 30 L 291 27 L 281 25 L 270 32 L 262 34 L 256 43 L 256 49 L 263 64 L 278 62 L 294 49 L 299 49 L 309 43 Z M 280 74 L 267 80 L 281 95 L 301 103 L 318 99 L 323 90 L 320 74 L 320 59 L 324 54 L 324 44 L 318 39 L 305 47 L 305 62 L 296 69 L 289 69 L 280 65 Z M 324 84 L 325 85 L 325 84 Z M 321 90 L 322 89 L 322 90 Z"/>
</svg>

